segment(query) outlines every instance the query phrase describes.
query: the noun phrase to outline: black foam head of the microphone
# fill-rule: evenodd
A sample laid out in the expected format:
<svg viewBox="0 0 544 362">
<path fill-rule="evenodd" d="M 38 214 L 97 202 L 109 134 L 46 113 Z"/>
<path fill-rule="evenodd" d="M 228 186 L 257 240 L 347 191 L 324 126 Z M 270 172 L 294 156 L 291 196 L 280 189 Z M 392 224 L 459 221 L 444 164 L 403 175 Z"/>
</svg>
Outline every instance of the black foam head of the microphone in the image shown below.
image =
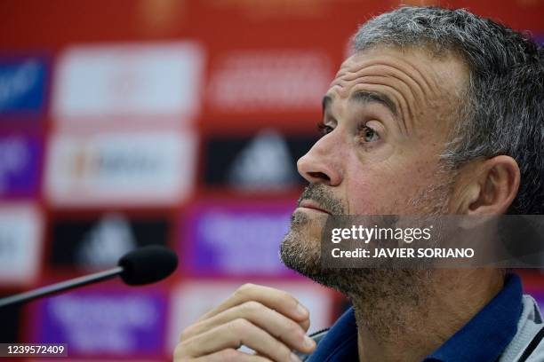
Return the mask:
<svg viewBox="0 0 544 362">
<path fill-rule="evenodd" d="M 178 267 L 178 256 L 169 248 L 156 245 L 137 248 L 119 259 L 121 279 L 131 286 L 155 283 Z"/>
</svg>

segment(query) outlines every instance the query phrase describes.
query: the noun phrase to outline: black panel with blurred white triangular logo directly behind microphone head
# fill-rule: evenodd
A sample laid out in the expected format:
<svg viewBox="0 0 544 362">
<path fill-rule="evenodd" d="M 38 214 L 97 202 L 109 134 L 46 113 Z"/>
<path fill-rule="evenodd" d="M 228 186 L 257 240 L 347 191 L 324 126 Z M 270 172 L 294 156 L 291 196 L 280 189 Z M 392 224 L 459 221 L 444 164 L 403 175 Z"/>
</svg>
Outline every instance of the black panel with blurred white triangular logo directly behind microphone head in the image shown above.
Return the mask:
<svg viewBox="0 0 544 362">
<path fill-rule="evenodd" d="M 58 217 L 52 221 L 51 264 L 96 270 L 116 265 L 125 253 L 167 244 L 167 216 L 129 217 L 105 213 L 95 218 Z"/>
</svg>

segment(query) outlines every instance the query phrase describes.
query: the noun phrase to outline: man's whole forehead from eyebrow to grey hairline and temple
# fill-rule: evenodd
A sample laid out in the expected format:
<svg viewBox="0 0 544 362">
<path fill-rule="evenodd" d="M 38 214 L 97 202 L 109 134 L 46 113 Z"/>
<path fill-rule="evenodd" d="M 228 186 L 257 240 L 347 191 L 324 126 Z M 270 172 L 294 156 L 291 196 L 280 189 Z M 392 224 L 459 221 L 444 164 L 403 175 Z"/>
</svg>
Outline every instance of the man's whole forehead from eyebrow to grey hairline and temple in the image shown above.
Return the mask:
<svg viewBox="0 0 544 362">
<path fill-rule="evenodd" d="M 453 120 L 466 94 L 467 78 L 468 67 L 454 55 L 372 48 L 342 63 L 324 97 L 324 108 L 336 108 L 339 102 L 360 99 L 362 94 L 394 110 L 410 130 L 431 125 L 433 120 Z M 438 123 L 445 126 L 449 122 Z"/>
</svg>

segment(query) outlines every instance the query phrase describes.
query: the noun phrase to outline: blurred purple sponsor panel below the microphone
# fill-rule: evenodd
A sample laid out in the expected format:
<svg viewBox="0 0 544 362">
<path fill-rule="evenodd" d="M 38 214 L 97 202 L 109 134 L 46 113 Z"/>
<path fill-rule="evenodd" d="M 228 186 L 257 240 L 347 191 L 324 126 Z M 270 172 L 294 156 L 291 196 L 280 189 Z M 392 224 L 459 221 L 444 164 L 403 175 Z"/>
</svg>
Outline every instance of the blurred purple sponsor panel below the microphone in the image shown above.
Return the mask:
<svg viewBox="0 0 544 362">
<path fill-rule="evenodd" d="M 156 289 L 72 292 L 38 304 L 34 342 L 67 343 L 69 356 L 162 356 L 166 295 Z"/>
</svg>

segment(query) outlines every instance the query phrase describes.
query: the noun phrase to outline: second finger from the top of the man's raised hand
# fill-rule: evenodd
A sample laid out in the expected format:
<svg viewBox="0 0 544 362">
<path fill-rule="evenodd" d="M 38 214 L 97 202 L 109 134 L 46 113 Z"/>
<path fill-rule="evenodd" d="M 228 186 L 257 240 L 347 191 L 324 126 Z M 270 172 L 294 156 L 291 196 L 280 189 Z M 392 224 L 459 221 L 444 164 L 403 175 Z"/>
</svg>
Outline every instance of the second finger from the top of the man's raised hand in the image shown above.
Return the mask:
<svg viewBox="0 0 544 362">
<path fill-rule="evenodd" d="M 221 311 L 210 319 L 204 319 L 196 323 L 196 325 L 189 327 L 185 331 L 182 339 L 190 339 L 197 334 L 202 334 L 204 331 L 236 319 L 248 320 L 253 325 L 266 330 L 268 334 L 284 342 L 292 350 L 309 353 L 315 347 L 315 342 L 305 334 L 306 331 L 299 324 L 255 301 L 236 305 L 226 311 Z"/>
</svg>

